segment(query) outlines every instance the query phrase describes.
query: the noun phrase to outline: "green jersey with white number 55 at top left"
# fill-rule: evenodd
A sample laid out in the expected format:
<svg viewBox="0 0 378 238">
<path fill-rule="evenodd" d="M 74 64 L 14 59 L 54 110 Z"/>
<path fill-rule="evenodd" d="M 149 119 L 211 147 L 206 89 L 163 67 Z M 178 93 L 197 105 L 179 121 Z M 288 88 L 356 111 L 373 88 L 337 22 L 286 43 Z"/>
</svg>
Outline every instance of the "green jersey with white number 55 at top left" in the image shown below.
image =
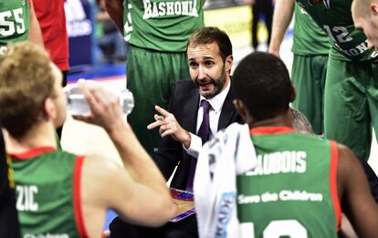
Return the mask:
<svg viewBox="0 0 378 238">
<path fill-rule="evenodd" d="M 28 0 L 0 1 L 0 48 L 9 42 L 27 40 L 29 28 Z"/>
</svg>

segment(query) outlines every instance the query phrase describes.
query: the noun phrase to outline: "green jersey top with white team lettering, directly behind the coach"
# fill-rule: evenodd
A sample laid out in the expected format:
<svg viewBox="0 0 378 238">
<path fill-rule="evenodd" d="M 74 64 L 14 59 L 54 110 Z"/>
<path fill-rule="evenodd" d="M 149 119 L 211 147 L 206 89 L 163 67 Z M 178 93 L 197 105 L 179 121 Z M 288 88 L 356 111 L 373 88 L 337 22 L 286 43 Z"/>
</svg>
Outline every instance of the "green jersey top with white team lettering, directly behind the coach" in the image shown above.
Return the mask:
<svg viewBox="0 0 378 238">
<path fill-rule="evenodd" d="M 164 52 L 184 52 L 195 29 L 204 26 L 201 0 L 124 0 L 125 40 Z"/>
</svg>

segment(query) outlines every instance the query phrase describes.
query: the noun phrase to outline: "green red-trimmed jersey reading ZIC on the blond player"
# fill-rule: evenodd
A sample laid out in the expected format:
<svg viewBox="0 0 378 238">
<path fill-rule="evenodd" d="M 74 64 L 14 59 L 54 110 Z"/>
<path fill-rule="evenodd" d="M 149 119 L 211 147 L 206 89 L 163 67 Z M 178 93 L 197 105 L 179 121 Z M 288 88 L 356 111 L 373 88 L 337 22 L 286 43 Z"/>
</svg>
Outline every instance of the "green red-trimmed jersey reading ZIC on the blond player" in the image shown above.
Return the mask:
<svg viewBox="0 0 378 238">
<path fill-rule="evenodd" d="M 49 147 L 11 157 L 22 235 L 86 236 L 79 192 L 83 158 Z"/>
</svg>

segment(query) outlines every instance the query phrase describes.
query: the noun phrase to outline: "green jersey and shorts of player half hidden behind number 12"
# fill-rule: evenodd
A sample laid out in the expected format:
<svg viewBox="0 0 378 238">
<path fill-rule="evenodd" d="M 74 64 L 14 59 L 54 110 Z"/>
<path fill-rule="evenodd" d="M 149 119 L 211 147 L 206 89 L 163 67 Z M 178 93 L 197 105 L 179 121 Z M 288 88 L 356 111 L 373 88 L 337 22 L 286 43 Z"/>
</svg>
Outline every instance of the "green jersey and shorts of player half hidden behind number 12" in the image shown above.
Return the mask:
<svg viewBox="0 0 378 238">
<path fill-rule="evenodd" d="M 297 97 L 293 107 L 309 119 L 315 133 L 323 133 L 323 98 L 330 41 L 299 5 L 295 5 L 291 80 Z"/>
</svg>

